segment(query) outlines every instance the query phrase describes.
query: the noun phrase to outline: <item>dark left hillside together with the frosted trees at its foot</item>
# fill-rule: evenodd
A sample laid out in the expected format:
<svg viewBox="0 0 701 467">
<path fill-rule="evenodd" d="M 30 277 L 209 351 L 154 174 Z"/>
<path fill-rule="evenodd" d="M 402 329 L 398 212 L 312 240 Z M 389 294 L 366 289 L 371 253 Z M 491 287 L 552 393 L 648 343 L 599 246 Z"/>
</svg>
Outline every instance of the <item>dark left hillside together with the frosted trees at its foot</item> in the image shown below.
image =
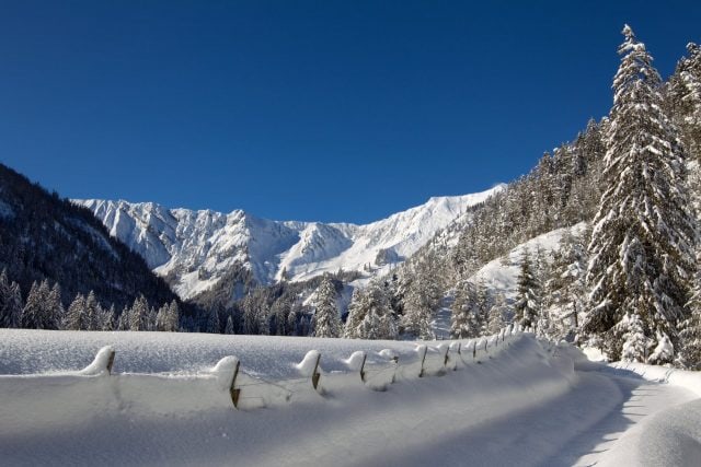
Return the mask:
<svg viewBox="0 0 701 467">
<path fill-rule="evenodd" d="M 108 329 L 133 304 L 145 314 L 162 304 L 180 306 L 168 284 L 88 209 L 2 164 L 0 271 L 4 327 Z M 84 316 L 71 322 L 72 303 Z"/>
</svg>

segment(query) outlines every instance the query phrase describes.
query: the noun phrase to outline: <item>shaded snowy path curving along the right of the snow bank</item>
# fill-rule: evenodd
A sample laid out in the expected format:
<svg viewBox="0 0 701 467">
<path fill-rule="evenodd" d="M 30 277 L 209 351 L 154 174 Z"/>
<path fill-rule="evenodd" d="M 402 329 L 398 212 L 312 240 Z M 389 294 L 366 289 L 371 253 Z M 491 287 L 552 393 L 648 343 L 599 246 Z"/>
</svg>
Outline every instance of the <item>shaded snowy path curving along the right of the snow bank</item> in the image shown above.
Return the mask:
<svg viewBox="0 0 701 467">
<path fill-rule="evenodd" d="M 578 371 L 574 387 L 566 394 L 466 427 L 434 443 L 430 450 L 418 446 L 404 451 L 387 465 L 640 465 L 644 459 L 633 452 L 643 447 L 641 422 L 697 396 L 627 373 Z M 633 458 L 636 463 L 631 463 Z"/>
</svg>

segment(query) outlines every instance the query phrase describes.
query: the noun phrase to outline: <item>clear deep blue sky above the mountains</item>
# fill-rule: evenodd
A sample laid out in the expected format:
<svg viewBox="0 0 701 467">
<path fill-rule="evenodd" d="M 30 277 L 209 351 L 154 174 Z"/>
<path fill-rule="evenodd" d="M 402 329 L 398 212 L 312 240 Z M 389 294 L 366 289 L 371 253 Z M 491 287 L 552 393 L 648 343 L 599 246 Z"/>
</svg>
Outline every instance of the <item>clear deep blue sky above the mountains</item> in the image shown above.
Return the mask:
<svg viewBox="0 0 701 467">
<path fill-rule="evenodd" d="M 526 173 L 698 2 L 0 1 L 0 161 L 76 198 L 372 221 Z"/>
</svg>

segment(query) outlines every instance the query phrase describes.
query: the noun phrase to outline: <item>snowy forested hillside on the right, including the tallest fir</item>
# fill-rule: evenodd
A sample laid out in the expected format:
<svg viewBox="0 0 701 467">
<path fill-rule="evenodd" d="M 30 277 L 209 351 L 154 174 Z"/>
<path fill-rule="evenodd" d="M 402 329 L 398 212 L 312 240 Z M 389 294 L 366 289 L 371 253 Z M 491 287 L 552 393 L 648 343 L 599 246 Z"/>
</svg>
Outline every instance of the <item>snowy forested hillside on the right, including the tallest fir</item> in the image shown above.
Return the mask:
<svg viewBox="0 0 701 467">
<path fill-rule="evenodd" d="M 623 35 L 610 115 L 472 208 L 455 246 L 439 233 L 401 268 L 395 289 L 409 291 L 400 310 L 420 316 L 412 322 L 451 291 L 457 336 L 517 320 L 613 360 L 699 367 L 701 52 L 689 44 L 665 82 L 629 26 Z M 529 238 L 579 222 L 588 227 L 552 250 L 524 249 L 514 300 L 473 278 Z"/>
</svg>

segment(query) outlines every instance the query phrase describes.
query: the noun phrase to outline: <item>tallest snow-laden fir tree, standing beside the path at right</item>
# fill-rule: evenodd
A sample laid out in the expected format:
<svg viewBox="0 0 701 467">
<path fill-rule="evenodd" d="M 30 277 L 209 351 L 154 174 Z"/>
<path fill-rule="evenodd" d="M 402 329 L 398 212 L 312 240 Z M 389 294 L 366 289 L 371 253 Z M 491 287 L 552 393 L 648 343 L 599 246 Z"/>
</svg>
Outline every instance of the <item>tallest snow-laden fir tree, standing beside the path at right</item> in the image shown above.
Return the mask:
<svg viewBox="0 0 701 467">
<path fill-rule="evenodd" d="M 676 346 L 677 324 L 688 314 L 693 224 L 683 153 L 663 110 L 662 80 L 628 25 L 623 35 L 606 191 L 588 246 L 591 292 L 584 330 L 602 338 L 610 359 L 643 361 L 657 336 Z"/>
</svg>

